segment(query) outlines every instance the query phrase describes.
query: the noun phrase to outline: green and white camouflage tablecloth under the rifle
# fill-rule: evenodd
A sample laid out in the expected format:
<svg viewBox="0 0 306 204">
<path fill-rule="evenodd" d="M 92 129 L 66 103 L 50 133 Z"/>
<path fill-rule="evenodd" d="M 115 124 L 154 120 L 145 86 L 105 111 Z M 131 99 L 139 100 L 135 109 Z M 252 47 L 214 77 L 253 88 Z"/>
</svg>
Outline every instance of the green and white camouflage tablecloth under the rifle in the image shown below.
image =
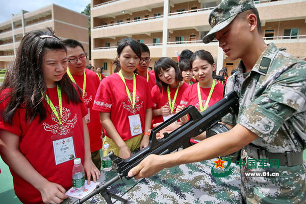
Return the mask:
<svg viewBox="0 0 306 204">
<path fill-rule="evenodd" d="M 211 174 L 212 167 L 216 166 L 213 161 L 216 159 L 164 169 L 150 178 L 123 178 L 114 183 L 109 191 L 132 203 L 241 203 L 239 168 L 231 164 L 234 167 L 231 175 L 214 177 Z M 104 184 L 116 174 L 116 171 L 101 171 L 99 182 Z M 68 198 L 63 203 L 75 200 Z M 106 201 L 98 194 L 86 203 Z"/>
</svg>

